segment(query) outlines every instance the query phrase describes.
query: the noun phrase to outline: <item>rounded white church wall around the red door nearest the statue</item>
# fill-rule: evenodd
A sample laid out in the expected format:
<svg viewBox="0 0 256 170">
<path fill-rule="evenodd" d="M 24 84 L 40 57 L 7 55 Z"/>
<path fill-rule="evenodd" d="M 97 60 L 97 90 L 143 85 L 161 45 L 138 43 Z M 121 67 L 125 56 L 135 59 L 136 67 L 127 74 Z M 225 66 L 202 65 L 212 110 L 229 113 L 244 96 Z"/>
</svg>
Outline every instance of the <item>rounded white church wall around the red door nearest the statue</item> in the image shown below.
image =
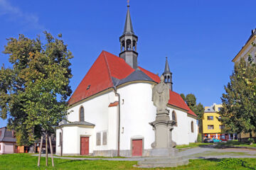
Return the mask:
<svg viewBox="0 0 256 170">
<path fill-rule="evenodd" d="M 154 130 L 149 123 L 156 118 L 156 107 L 151 101 L 151 84 L 129 84 L 117 89 L 120 94 L 120 149 L 131 149 L 131 138 L 144 138 L 144 149 L 151 149 Z M 124 101 L 122 101 L 124 100 Z"/>
</svg>

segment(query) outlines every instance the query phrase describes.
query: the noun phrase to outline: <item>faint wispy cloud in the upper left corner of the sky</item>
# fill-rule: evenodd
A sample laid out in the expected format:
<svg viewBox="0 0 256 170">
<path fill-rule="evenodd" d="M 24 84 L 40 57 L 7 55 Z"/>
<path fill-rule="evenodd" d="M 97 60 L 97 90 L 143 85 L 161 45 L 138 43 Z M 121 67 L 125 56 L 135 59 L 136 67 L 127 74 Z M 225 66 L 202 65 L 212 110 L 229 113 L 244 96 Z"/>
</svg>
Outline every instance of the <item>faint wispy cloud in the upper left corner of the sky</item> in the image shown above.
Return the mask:
<svg viewBox="0 0 256 170">
<path fill-rule="evenodd" d="M 25 29 L 43 30 L 43 26 L 38 23 L 38 16 L 24 13 L 20 8 L 12 6 L 8 0 L 0 0 L 0 16 L 6 16 L 9 21 L 21 23 Z"/>
</svg>

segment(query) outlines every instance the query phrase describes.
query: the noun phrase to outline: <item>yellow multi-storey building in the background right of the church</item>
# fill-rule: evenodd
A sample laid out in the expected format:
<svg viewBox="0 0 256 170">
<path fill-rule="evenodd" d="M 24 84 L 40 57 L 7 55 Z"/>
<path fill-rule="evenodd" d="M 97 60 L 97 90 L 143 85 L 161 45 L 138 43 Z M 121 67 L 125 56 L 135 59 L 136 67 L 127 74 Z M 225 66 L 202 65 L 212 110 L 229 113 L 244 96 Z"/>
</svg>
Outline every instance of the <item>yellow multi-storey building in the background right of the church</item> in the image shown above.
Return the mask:
<svg viewBox="0 0 256 170">
<path fill-rule="evenodd" d="M 206 106 L 203 113 L 203 137 L 218 140 L 234 140 L 237 138 L 236 134 L 223 133 L 222 130 L 225 127 L 220 123 L 220 111 L 221 104 L 213 103 L 213 106 Z"/>
</svg>

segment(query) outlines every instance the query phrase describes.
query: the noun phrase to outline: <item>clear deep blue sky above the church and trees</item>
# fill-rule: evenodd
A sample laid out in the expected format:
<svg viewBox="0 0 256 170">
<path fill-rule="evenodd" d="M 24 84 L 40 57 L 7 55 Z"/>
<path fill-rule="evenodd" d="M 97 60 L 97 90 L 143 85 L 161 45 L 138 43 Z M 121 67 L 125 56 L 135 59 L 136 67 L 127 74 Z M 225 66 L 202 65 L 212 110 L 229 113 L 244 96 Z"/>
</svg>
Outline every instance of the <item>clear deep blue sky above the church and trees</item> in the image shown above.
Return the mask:
<svg viewBox="0 0 256 170">
<path fill-rule="evenodd" d="M 139 66 L 164 72 L 165 57 L 178 94 L 194 94 L 203 106 L 221 103 L 233 72 L 231 60 L 256 28 L 255 0 L 130 0 Z M 102 50 L 119 55 L 127 0 L 0 0 L 0 51 L 6 38 L 63 34 L 71 60 L 73 91 Z M 11 67 L 0 53 L 0 66 Z M 1 120 L 0 127 L 6 125 Z"/>
</svg>

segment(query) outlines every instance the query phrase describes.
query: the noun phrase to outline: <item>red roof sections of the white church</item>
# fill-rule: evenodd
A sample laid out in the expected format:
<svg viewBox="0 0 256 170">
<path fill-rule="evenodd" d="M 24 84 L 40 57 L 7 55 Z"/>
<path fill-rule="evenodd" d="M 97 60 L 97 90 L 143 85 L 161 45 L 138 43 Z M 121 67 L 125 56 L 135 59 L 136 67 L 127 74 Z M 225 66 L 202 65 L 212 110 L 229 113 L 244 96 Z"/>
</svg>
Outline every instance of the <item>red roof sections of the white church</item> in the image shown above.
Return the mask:
<svg viewBox="0 0 256 170">
<path fill-rule="evenodd" d="M 153 81 L 157 83 L 160 82 L 158 75 L 149 72 L 142 67 L 139 67 L 139 69 Z M 73 105 L 82 99 L 109 89 L 114 86 L 112 77 L 116 79 L 124 79 L 129 76 L 129 74 L 132 74 L 132 72 L 134 72 L 134 69 L 132 69 L 132 67 L 130 67 L 122 58 L 112 55 L 110 52 L 102 51 L 78 85 L 78 88 L 75 89 L 75 92 L 68 100 L 68 104 Z M 112 103 L 110 103 L 110 105 L 111 104 Z M 174 91 L 170 91 L 169 104 L 178 108 L 183 108 L 191 115 L 196 115 L 188 108 L 181 96 Z"/>
</svg>

